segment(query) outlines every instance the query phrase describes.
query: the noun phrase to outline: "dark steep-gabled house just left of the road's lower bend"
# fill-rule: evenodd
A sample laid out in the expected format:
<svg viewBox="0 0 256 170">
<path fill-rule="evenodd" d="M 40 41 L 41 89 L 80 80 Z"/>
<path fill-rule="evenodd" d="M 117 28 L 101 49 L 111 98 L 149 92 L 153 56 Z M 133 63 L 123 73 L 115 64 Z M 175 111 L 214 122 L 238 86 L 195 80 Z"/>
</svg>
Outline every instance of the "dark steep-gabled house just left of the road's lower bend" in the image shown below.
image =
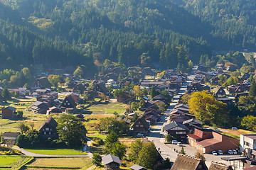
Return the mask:
<svg viewBox="0 0 256 170">
<path fill-rule="evenodd" d="M 132 125 L 132 129 L 134 130 L 135 134 L 142 133 L 146 135 L 149 133 L 149 123 L 147 123 L 141 115 Z"/>
</svg>

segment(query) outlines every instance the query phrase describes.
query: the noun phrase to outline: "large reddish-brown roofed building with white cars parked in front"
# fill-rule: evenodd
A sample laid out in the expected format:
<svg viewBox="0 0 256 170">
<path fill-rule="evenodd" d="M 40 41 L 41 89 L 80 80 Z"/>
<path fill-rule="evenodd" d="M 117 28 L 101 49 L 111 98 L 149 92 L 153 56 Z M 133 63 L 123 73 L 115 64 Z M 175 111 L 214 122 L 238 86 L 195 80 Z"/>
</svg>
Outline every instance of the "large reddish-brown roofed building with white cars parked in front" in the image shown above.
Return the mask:
<svg viewBox="0 0 256 170">
<path fill-rule="evenodd" d="M 213 130 L 196 128 L 193 134 L 188 135 L 188 144 L 203 153 L 218 150 L 222 150 L 225 153 L 228 152 L 228 149 L 238 149 L 239 140 Z"/>
</svg>

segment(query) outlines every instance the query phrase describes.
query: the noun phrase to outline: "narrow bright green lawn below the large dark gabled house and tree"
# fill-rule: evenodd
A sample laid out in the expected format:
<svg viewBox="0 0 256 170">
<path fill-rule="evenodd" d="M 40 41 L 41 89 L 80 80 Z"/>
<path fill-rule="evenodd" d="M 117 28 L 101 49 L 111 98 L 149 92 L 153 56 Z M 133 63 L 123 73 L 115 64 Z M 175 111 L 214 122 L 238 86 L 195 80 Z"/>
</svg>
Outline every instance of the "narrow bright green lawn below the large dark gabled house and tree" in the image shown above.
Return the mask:
<svg viewBox="0 0 256 170">
<path fill-rule="evenodd" d="M 26 149 L 28 152 L 33 152 L 36 154 L 52 154 L 52 155 L 78 155 L 87 154 L 75 149 Z"/>
</svg>

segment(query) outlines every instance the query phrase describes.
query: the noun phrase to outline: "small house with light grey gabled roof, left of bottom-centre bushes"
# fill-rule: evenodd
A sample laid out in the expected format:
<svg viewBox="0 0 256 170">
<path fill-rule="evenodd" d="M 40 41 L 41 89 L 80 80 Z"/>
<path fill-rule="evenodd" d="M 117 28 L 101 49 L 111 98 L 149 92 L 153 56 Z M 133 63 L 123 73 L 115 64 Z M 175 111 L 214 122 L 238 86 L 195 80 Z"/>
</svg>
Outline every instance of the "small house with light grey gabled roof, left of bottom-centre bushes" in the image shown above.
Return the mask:
<svg viewBox="0 0 256 170">
<path fill-rule="evenodd" d="M 102 162 L 106 170 L 119 170 L 119 166 L 122 165 L 119 157 L 116 157 L 112 154 L 108 154 L 105 157 L 102 157 Z"/>
</svg>

